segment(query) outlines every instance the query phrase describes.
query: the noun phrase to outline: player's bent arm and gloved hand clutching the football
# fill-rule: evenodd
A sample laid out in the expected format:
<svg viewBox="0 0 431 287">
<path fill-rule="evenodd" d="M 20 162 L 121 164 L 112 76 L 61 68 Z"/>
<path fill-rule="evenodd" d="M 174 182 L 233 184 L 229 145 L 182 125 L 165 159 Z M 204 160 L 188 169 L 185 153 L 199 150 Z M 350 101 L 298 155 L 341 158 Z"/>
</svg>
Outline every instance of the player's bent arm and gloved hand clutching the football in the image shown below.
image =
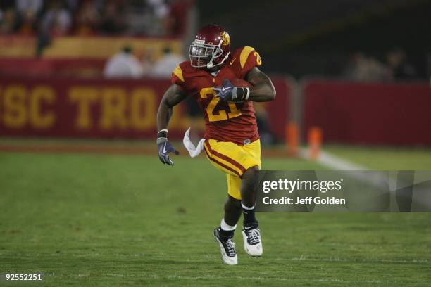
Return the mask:
<svg viewBox="0 0 431 287">
<path fill-rule="evenodd" d="M 273 101 L 275 88 L 265 73 L 254 67 L 249 70 L 245 79 L 252 84 L 252 87 L 235 87 L 229 79 L 225 79 L 221 87 L 213 89 L 220 100 L 224 102 Z"/>
</svg>

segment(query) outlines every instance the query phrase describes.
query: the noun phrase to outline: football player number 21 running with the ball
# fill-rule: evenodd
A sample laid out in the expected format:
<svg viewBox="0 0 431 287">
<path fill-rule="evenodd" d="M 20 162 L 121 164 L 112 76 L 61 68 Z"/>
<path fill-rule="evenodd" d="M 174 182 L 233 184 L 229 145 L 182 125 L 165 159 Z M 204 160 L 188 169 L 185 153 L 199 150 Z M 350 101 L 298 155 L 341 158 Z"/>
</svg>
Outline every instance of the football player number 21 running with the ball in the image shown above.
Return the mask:
<svg viewBox="0 0 431 287">
<path fill-rule="evenodd" d="M 157 113 L 157 145 L 161 162 L 173 165 L 169 153 L 178 151 L 168 141 L 168 122 L 173 106 L 187 96 L 199 103 L 206 121 L 204 151 L 211 164 L 226 174 L 227 200 L 220 227 L 213 231 L 223 262 L 237 264 L 232 238 L 241 214 L 244 249 L 262 255 L 261 232 L 254 212 L 255 170 L 261 167 L 261 144 L 253 102 L 273 101 L 275 89 L 259 66 L 258 52 L 249 46 L 230 51 L 229 34 L 218 25 L 206 25 L 196 34 L 189 58 L 175 68 L 172 85 Z M 237 87 L 244 79 L 250 87 Z"/>
</svg>

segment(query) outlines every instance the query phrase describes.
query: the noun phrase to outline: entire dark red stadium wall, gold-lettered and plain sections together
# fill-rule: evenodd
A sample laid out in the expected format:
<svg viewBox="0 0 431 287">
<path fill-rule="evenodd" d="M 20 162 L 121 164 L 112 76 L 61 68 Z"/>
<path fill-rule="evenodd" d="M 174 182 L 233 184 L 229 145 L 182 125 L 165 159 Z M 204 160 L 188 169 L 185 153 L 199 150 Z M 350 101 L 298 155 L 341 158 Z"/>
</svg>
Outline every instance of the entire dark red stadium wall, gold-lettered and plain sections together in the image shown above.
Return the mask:
<svg viewBox="0 0 431 287">
<path fill-rule="evenodd" d="M 272 78 L 276 100 L 255 106 L 279 141 L 290 120 L 303 141 L 319 127 L 325 143 L 431 146 L 427 84 Z M 153 139 L 169 85 L 166 79 L 1 77 L 0 136 Z M 182 139 L 191 120 L 187 105 L 175 107 L 170 137 Z"/>
</svg>

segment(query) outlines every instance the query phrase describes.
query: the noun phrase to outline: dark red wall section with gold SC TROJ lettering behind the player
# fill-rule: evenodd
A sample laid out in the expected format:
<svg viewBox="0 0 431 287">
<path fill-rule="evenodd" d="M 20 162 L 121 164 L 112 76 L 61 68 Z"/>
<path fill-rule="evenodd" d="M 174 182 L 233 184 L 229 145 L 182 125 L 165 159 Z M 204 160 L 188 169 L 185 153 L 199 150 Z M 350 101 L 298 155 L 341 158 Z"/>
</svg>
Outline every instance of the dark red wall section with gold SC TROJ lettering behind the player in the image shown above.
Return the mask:
<svg viewBox="0 0 431 287">
<path fill-rule="evenodd" d="M 263 103 L 275 136 L 285 138 L 290 88 L 273 79 L 277 101 Z M 0 79 L 0 136 L 154 139 L 167 79 L 108 80 L 40 77 Z M 187 106 L 174 108 L 170 138 L 190 126 Z"/>
</svg>

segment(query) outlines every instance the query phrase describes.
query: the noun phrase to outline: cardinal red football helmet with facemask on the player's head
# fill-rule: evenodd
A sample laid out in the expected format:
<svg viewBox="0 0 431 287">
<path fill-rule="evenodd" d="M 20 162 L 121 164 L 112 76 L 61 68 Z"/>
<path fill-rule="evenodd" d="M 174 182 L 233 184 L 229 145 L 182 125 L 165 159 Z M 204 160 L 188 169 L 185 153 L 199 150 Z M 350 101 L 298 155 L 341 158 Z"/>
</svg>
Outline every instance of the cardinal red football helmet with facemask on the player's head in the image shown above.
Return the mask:
<svg viewBox="0 0 431 287">
<path fill-rule="evenodd" d="M 218 25 L 206 25 L 190 45 L 190 63 L 196 68 L 220 69 L 229 53 L 229 34 Z"/>
</svg>

